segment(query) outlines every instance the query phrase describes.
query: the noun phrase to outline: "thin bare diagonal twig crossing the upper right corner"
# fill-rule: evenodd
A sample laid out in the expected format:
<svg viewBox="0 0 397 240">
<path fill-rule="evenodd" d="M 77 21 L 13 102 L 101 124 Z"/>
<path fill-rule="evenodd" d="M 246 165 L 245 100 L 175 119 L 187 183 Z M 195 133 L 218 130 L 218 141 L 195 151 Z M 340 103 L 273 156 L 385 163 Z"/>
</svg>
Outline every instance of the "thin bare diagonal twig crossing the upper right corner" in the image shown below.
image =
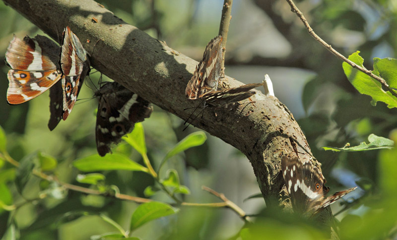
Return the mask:
<svg viewBox="0 0 397 240">
<path fill-rule="evenodd" d="M 334 50 L 330 44 L 326 43 L 323 39 L 321 39 L 315 32 L 314 30 L 310 27 L 308 21 L 306 20 L 305 16 L 303 15 L 303 13 L 298 9 L 298 7 L 295 5 L 295 3 L 292 0 L 287 0 L 288 4 L 291 6 L 291 11 L 295 12 L 296 15 L 298 15 L 299 19 L 301 19 L 301 21 L 303 22 L 303 25 L 305 25 L 307 31 L 309 32 L 310 36 L 312 36 L 314 39 L 316 39 L 317 42 L 319 42 L 321 45 L 323 45 L 326 49 L 328 49 L 328 51 L 330 51 L 333 55 L 335 55 L 338 59 L 347 62 L 350 66 L 352 66 L 353 68 L 358 69 L 359 71 L 367 74 L 368 76 L 374 78 L 375 80 L 377 80 L 378 82 L 380 82 L 393 96 L 397 97 L 397 93 L 389 87 L 389 85 L 387 84 L 387 82 L 385 81 L 385 79 L 383 79 L 380 76 L 375 75 L 374 73 L 372 73 L 371 70 L 365 69 L 359 65 L 357 65 L 356 63 L 352 62 L 351 60 L 346 59 L 346 57 L 344 57 L 343 55 L 341 55 L 340 53 L 338 53 L 336 50 Z"/>
</svg>

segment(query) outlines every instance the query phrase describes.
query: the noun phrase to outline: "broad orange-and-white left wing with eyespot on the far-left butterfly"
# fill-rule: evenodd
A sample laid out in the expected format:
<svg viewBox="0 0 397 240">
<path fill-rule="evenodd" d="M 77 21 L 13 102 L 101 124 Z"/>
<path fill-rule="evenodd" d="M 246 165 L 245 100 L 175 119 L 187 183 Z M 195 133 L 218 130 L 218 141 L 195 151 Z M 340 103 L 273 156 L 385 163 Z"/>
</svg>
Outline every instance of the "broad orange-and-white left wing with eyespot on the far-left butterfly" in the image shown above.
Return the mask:
<svg viewBox="0 0 397 240">
<path fill-rule="evenodd" d="M 12 38 L 5 53 L 5 60 L 12 68 L 7 74 L 9 104 L 29 101 L 61 79 L 57 49 L 56 44 L 44 36 Z"/>
</svg>

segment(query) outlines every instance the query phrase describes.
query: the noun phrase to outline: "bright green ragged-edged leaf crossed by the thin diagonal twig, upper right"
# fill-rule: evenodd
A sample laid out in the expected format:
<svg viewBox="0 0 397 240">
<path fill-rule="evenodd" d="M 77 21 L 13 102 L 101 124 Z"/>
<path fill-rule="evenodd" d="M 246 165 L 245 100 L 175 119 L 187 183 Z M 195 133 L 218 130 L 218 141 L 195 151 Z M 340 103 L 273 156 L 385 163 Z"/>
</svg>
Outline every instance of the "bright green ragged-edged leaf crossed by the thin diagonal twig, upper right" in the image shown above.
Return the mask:
<svg viewBox="0 0 397 240">
<path fill-rule="evenodd" d="M 359 56 L 359 51 L 349 56 L 349 60 L 353 61 L 357 65 L 364 67 L 364 59 Z M 382 84 L 367 74 L 353 68 L 348 63 L 342 63 L 343 71 L 350 83 L 360 92 L 372 97 L 371 104 L 376 105 L 378 101 L 384 102 L 389 108 L 397 107 L 397 98 L 394 97 L 390 92 L 385 92 L 382 89 Z M 377 70 L 374 71 L 376 74 Z M 378 74 L 382 75 L 382 72 Z"/>
</svg>

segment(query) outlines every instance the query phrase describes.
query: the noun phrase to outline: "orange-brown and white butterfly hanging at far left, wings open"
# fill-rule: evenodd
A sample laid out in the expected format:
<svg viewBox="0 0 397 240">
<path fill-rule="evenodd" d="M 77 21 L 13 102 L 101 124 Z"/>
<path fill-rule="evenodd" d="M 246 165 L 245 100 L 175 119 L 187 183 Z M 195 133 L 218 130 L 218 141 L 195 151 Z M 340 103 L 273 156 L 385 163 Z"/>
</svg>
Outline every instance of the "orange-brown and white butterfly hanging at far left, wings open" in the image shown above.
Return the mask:
<svg viewBox="0 0 397 240">
<path fill-rule="evenodd" d="M 61 119 L 66 120 L 89 72 L 87 54 L 69 27 L 64 30 L 61 54 L 60 48 L 47 37 L 26 36 L 21 40 L 14 36 L 5 60 L 12 68 L 7 74 L 9 104 L 25 103 L 50 88 L 48 127 L 52 130 Z"/>
</svg>

